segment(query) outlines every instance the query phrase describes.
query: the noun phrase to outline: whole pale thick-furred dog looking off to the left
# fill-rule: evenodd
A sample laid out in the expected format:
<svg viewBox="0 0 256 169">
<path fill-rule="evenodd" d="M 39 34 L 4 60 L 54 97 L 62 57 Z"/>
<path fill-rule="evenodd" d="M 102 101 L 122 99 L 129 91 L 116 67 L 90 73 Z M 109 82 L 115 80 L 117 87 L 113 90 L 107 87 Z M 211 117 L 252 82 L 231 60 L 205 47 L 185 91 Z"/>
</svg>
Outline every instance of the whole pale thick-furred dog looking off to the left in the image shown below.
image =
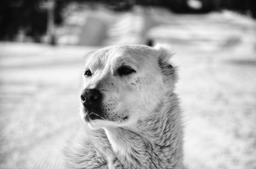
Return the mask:
<svg viewBox="0 0 256 169">
<path fill-rule="evenodd" d="M 67 168 L 185 168 L 172 55 L 161 45 L 119 45 L 88 56 L 85 125 L 65 149 Z"/>
</svg>

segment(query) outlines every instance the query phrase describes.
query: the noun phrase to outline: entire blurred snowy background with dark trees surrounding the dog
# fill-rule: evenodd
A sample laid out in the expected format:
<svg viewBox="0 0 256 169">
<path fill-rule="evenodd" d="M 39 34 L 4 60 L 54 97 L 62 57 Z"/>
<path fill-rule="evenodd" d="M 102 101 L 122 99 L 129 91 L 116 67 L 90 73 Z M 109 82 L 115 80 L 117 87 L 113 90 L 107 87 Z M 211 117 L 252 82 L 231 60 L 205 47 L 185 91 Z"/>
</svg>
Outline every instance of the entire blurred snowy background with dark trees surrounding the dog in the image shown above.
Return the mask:
<svg viewBox="0 0 256 169">
<path fill-rule="evenodd" d="M 190 168 L 256 168 L 256 1 L 1 0 L 0 168 L 63 168 L 84 55 L 169 43 Z"/>
</svg>

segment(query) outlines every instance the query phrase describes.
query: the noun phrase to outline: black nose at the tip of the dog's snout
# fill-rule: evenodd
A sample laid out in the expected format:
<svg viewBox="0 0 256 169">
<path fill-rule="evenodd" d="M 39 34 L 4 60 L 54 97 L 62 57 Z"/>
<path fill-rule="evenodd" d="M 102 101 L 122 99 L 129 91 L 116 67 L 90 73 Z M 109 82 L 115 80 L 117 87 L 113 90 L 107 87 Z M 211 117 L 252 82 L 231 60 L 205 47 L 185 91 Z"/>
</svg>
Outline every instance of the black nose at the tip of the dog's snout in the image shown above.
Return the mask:
<svg viewBox="0 0 256 169">
<path fill-rule="evenodd" d="M 85 89 L 81 94 L 81 101 L 84 105 L 93 105 L 102 98 L 102 94 L 97 89 Z"/>
</svg>

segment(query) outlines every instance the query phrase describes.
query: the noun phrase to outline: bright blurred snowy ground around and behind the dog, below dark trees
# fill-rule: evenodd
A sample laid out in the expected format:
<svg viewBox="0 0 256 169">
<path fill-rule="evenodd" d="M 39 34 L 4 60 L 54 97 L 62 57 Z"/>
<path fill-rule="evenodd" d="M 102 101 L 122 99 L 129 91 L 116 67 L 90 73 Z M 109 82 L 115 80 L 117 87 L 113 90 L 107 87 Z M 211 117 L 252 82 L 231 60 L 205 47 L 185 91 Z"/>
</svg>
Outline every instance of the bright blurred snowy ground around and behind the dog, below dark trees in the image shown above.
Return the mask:
<svg viewBox="0 0 256 169">
<path fill-rule="evenodd" d="M 100 41 L 79 40 L 86 36 L 79 33 L 71 39 L 94 46 L 147 38 L 171 43 L 186 162 L 196 169 L 255 169 L 255 21 L 230 12 L 174 15 L 141 8 L 111 15 Z M 81 125 L 83 55 L 94 49 L 0 43 L 0 168 L 62 168 L 61 149 Z"/>
</svg>

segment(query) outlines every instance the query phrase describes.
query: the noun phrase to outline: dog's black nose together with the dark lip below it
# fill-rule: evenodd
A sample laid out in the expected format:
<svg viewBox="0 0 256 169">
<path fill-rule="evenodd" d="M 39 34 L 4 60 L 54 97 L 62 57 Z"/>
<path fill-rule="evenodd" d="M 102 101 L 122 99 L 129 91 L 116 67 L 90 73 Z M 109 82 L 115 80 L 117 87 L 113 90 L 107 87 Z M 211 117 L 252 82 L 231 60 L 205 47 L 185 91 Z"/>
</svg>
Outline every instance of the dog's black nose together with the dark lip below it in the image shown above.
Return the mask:
<svg viewBox="0 0 256 169">
<path fill-rule="evenodd" d="M 81 101 L 85 108 L 86 120 L 102 119 L 104 114 L 101 109 L 102 94 L 97 89 L 84 89 L 81 93 Z"/>
</svg>

